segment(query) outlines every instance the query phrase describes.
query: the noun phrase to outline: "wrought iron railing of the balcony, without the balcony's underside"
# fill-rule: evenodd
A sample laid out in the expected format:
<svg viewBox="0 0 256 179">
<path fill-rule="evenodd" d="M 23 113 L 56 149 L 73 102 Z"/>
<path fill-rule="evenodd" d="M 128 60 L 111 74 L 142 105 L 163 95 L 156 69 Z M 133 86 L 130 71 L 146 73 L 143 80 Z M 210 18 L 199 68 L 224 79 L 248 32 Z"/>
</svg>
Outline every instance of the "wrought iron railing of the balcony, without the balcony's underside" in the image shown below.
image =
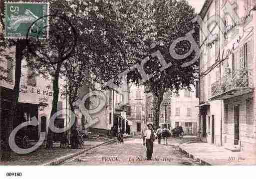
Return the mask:
<svg viewBox="0 0 256 179">
<path fill-rule="evenodd" d="M 251 70 L 233 70 L 211 85 L 211 98 L 234 89 L 253 88 Z"/>
</svg>

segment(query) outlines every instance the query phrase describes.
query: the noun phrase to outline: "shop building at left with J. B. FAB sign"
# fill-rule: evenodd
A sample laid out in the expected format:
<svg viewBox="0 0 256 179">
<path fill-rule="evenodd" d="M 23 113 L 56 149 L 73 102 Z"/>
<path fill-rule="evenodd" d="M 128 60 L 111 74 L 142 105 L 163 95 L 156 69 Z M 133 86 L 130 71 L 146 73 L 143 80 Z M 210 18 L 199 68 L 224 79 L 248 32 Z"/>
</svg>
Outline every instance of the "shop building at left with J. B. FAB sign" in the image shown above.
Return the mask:
<svg viewBox="0 0 256 179">
<path fill-rule="evenodd" d="M 15 48 L 6 49 L 6 53 L 15 57 Z M 6 71 L 1 71 L 0 80 L 0 132 L 5 133 L 9 113 L 11 110 L 12 91 L 15 81 L 15 60 L 2 58 L 0 66 Z M 65 78 L 59 78 L 59 89 L 64 89 Z M 17 135 L 27 136 L 28 140 L 37 141 L 41 132 L 48 132 L 50 113 L 52 108 L 53 89 L 51 79 L 45 79 L 42 75 L 34 75 L 33 70 L 27 67 L 26 60 L 21 61 L 21 79 L 19 98 L 16 107 L 16 118 L 12 122 L 12 129 L 24 122 L 29 122 L 35 117 L 38 120 L 37 126 L 26 126 L 18 131 Z M 68 123 L 67 97 L 59 94 L 58 110 L 61 113 L 57 116 L 54 124 L 57 128 L 64 128 Z M 61 134 L 54 134 L 53 140 L 59 140 Z M 2 139 L 1 139 L 2 140 Z"/>
</svg>

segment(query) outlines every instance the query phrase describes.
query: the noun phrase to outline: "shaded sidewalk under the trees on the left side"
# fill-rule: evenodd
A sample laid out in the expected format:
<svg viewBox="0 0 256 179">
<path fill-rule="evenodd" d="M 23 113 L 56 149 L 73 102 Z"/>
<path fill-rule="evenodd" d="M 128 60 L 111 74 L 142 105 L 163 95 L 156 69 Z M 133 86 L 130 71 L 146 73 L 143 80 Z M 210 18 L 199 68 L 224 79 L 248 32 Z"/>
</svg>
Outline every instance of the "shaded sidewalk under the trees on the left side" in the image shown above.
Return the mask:
<svg viewBox="0 0 256 179">
<path fill-rule="evenodd" d="M 114 141 L 115 139 L 95 139 L 88 140 L 84 143 L 83 149 L 60 149 L 58 143 L 53 144 L 53 150 L 46 150 L 44 148 L 38 149 L 32 153 L 25 155 L 18 155 L 15 153 L 11 154 L 11 161 L 0 162 L 0 165 L 10 165 L 10 166 L 34 166 L 34 165 L 51 165 L 52 162 L 57 162 L 60 159 L 65 159 L 67 157 L 72 157 L 77 153 L 81 153 L 85 150 L 97 147 L 98 145 L 105 144 L 107 142 Z"/>
</svg>

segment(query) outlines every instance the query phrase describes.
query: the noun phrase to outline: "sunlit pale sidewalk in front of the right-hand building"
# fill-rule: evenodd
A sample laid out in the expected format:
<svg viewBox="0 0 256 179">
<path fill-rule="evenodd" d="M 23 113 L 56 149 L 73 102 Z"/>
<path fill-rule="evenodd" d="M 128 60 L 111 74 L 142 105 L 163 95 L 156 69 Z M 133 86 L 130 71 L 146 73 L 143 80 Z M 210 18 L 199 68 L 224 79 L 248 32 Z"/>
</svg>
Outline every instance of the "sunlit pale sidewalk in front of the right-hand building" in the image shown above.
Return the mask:
<svg viewBox="0 0 256 179">
<path fill-rule="evenodd" d="M 181 144 L 179 148 L 204 165 L 256 165 L 256 154 L 232 152 L 207 143 Z"/>
</svg>

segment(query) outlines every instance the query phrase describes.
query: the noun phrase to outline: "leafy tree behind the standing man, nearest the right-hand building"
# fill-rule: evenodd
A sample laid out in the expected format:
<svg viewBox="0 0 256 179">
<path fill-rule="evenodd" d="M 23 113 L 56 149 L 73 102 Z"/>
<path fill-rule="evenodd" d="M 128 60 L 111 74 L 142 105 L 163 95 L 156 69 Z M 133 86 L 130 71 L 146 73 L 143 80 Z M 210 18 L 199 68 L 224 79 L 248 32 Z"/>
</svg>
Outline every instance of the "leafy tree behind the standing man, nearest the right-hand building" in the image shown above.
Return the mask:
<svg viewBox="0 0 256 179">
<path fill-rule="evenodd" d="M 170 45 L 193 29 L 195 29 L 193 37 L 196 43 L 199 43 L 199 27 L 191 22 L 196 14 L 194 8 L 188 4 L 187 0 L 154 0 L 151 9 L 153 14 L 150 15 L 153 18 L 155 33 L 151 33 L 153 35 L 150 35 L 145 40 L 145 46 L 147 46 L 145 53 L 149 56 L 149 60 L 144 65 L 144 69 L 147 74 L 152 74 L 152 78 L 145 81 L 144 84 L 152 92 L 153 125 L 157 129 L 159 126 L 160 105 L 163 101 L 164 93 L 168 90 L 190 89 L 190 85 L 194 84 L 195 74 L 198 71 L 198 62 L 182 67 L 184 62 L 194 59 L 197 55 L 195 51 L 186 58 L 177 60 L 169 52 Z M 177 54 L 182 55 L 189 52 L 193 45 L 197 44 L 191 44 L 187 40 L 182 40 L 171 50 L 175 50 Z M 172 63 L 169 68 L 163 71 L 160 71 L 160 68 L 163 66 L 159 59 L 157 59 L 157 56 L 151 56 L 157 50 L 160 50 L 167 64 Z M 139 60 L 137 62 L 140 63 Z M 141 76 L 136 70 L 129 74 L 129 78 L 135 83 L 139 83 L 141 80 Z"/>
</svg>

